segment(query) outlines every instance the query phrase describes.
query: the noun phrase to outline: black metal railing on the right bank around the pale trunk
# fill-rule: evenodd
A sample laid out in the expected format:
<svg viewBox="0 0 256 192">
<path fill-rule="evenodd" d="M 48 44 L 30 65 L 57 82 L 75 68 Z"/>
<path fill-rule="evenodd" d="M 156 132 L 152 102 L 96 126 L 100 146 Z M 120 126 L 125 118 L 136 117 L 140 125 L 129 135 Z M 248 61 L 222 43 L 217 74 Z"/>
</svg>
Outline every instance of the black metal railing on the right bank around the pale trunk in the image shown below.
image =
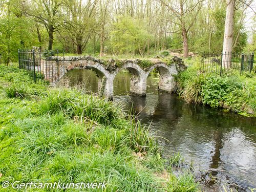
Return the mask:
<svg viewBox="0 0 256 192">
<path fill-rule="evenodd" d="M 217 75 L 242 75 L 253 69 L 254 53 L 203 54 L 200 70 Z"/>
</svg>

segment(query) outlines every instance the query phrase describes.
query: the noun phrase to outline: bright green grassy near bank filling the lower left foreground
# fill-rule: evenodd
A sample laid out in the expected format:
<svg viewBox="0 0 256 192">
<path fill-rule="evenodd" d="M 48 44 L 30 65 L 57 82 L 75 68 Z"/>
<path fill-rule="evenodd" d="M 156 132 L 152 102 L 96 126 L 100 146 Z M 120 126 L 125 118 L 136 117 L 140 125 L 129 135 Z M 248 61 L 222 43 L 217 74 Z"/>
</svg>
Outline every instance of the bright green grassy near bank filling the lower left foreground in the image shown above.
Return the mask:
<svg viewBox="0 0 256 192">
<path fill-rule="evenodd" d="M 118 103 L 35 84 L 16 67 L 0 65 L 0 83 L 0 191 L 16 191 L 3 188 L 4 181 L 105 181 L 104 191 L 198 190 L 189 171 L 173 174 L 172 159 L 161 157 L 156 140 Z"/>
</svg>

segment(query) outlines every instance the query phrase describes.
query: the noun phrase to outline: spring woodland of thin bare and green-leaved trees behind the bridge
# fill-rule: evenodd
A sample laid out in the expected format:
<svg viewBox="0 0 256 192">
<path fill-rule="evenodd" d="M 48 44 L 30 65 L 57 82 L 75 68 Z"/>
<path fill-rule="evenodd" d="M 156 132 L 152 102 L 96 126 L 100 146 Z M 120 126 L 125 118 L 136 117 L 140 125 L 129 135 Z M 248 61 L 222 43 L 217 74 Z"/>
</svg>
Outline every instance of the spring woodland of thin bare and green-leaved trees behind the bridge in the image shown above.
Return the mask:
<svg viewBox="0 0 256 192">
<path fill-rule="evenodd" d="M 254 4 L 236 1 L 233 52 L 256 49 Z M 220 54 L 226 7 L 221 0 L 1 0 L 0 62 L 8 65 L 18 49 L 32 48 L 120 57 Z"/>
</svg>

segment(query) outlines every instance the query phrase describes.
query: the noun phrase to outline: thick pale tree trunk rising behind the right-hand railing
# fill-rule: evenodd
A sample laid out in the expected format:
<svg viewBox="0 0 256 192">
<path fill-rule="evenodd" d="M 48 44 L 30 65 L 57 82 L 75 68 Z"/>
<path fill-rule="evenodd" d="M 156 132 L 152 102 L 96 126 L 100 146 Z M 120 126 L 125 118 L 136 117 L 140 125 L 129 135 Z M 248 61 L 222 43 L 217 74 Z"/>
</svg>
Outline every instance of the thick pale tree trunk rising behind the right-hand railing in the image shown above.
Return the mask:
<svg viewBox="0 0 256 192">
<path fill-rule="evenodd" d="M 235 0 L 227 0 L 226 19 L 225 19 L 225 32 L 223 40 L 222 65 L 224 68 L 231 66 L 232 42 L 233 42 L 233 25 L 234 25 L 234 3 Z"/>
</svg>

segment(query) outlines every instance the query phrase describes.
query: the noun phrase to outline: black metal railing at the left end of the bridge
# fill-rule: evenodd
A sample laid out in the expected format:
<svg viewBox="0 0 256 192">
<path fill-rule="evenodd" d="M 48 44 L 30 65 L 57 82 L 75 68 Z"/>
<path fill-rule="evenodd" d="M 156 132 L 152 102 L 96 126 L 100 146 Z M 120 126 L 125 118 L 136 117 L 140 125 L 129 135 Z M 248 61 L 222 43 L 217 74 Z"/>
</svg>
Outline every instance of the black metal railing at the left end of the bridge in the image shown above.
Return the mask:
<svg viewBox="0 0 256 192">
<path fill-rule="evenodd" d="M 65 77 L 65 53 L 18 50 L 19 69 L 25 69 L 34 82 L 56 82 Z"/>
</svg>

